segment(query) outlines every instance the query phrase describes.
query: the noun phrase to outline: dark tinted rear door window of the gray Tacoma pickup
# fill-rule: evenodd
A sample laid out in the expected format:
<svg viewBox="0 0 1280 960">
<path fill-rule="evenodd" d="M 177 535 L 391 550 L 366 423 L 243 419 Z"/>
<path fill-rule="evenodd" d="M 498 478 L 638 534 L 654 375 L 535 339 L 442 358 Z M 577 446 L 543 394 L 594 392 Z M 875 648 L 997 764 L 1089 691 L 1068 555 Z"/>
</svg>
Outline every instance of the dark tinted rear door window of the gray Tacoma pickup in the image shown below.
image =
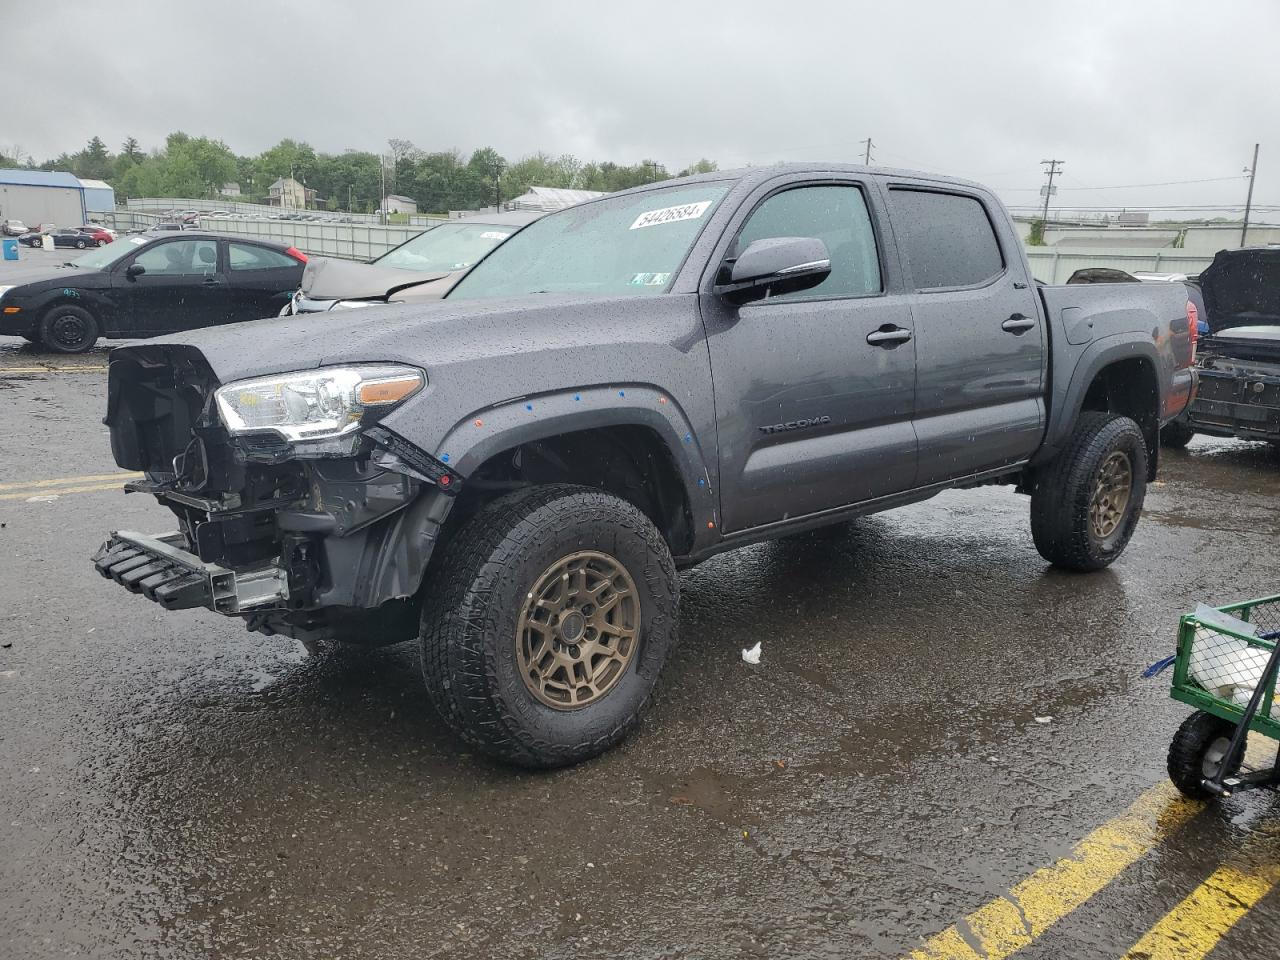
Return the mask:
<svg viewBox="0 0 1280 960">
<path fill-rule="evenodd" d="M 890 202 L 918 291 L 978 287 L 1004 273 L 996 232 L 977 197 L 892 188 Z"/>
</svg>

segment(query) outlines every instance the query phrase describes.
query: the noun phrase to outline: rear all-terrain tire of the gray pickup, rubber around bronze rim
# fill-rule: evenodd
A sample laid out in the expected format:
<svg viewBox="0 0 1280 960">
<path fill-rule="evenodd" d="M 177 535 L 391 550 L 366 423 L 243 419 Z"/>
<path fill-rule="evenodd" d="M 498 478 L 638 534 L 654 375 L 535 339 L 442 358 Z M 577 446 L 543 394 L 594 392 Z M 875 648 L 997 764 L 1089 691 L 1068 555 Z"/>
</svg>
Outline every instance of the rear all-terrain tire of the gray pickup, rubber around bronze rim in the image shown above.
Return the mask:
<svg viewBox="0 0 1280 960">
<path fill-rule="evenodd" d="M 1114 529 L 1100 532 L 1092 518 L 1097 484 L 1123 454 L 1129 489 Z M 1032 488 L 1032 539 L 1041 557 L 1064 570 L 1111 564 L 1129 544 L 1147 495 L 1147 444 L 1142 429 L 1117 413 L 1084 411 L 1066 447 L 1038 471 Z"/>
</svg>

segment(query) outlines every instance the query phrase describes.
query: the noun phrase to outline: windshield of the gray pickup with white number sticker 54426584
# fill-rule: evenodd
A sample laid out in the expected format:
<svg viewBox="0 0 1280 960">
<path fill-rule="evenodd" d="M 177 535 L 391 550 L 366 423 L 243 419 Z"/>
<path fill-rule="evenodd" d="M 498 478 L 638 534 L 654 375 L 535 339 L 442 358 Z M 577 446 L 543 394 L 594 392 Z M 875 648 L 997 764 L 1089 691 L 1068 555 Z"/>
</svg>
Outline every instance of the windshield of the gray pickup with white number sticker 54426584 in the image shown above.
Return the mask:
<svg viewBox="0 0 1280 960">
<path fill-rule="evenodd" d="M 663 293 L 730 184 L 709 180 L 570 207 L 521 230 L 452 298 Z"/>
</svg>

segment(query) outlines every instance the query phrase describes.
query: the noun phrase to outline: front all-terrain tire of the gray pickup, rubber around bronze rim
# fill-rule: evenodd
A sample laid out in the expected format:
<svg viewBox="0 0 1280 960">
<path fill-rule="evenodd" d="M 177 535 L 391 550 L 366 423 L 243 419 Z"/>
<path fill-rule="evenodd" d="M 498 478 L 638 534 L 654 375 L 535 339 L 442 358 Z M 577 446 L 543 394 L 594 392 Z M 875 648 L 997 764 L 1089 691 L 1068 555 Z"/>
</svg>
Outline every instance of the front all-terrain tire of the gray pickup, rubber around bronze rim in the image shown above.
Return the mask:
<svg viewBox="0 0 1280 960">
<path fill-rule="evenodd" d="M 521 671 L 520 618 L 541 576 L 582 552 L 607 556 L 630 576 L 639 634 L 626 668 L 598 699 L 548 705 Z M 579 763 L 639 722 L 676 641 L 678 602 L 671 552 L 636 507 L 588 486 L 520 490 L 467 521 L 434 566 L 422 677 L 444 722 L 477 750 L 529 768 Z"/>
</svg>

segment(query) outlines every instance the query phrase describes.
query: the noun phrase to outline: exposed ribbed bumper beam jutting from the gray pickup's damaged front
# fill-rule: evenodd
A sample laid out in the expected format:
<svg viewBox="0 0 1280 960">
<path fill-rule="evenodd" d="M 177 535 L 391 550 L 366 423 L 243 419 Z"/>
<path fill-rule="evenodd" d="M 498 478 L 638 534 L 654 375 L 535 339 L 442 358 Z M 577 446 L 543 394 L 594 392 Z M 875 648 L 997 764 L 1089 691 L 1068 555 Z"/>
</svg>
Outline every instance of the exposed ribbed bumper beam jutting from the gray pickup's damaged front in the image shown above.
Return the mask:
<svg viewBox="0 0 1280 960">
<path fill-rule="evenodd" d="M 288 575 L 279 566 L 236 571 L 206 563 L 186 548 L 180 532 L 147 536 L 119 530 L 92 559 L 104 577 L 170 611 L 207 607 L 236 616 L 289 599 Z"/>
</svg>

